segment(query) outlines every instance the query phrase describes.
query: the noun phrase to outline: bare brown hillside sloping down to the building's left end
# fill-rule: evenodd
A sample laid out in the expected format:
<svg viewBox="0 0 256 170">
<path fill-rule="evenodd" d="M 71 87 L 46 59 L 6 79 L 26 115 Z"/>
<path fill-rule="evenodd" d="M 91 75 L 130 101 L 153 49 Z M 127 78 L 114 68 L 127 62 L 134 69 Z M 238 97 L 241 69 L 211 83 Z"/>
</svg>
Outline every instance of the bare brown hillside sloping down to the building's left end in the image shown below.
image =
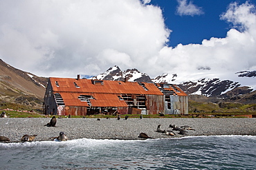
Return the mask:
<svg viewBox="0 0 256 170">
<path fill-rule="evenodd" d="M 42 105 L 48 78 L 16 69 L 0 59 L 0 100 Z"/>
</svg>

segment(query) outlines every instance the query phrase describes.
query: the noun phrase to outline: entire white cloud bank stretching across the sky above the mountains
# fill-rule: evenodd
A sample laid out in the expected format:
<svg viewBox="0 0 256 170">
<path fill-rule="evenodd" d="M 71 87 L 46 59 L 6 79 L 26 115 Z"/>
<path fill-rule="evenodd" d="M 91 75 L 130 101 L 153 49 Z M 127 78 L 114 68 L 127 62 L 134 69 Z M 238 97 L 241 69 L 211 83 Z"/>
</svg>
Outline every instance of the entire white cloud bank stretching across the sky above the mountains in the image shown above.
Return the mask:
<svg viewBox="0 0 256 170">
<path fill-rule="evenodd" d="M 168 47 L 171 30 L 161 9 L 144 2 L 0 1 L 0 58 L 39 76 L 58 77 L 93 76 L 113 65 L 136 67 L 151 77 L 256 69 L 252 4 L 231 3 L 221 14 L 232 25 L 225 38 Z"/>
</svg>

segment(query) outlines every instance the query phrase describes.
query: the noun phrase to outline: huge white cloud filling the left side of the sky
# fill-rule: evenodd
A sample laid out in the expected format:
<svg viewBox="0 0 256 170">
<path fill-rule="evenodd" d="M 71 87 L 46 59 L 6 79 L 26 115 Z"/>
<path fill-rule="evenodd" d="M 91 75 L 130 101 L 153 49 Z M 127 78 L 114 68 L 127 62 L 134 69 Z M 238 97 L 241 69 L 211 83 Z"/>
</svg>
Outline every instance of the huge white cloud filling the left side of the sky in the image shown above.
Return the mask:
<svg viewBox="0 0 256 170">
<path fill-rule="evenodd" d="M 139 0 L 0 1 L 1 59 L 42 76 L 138 67 L 169 35 L 161 9 Z"/>
</svg>

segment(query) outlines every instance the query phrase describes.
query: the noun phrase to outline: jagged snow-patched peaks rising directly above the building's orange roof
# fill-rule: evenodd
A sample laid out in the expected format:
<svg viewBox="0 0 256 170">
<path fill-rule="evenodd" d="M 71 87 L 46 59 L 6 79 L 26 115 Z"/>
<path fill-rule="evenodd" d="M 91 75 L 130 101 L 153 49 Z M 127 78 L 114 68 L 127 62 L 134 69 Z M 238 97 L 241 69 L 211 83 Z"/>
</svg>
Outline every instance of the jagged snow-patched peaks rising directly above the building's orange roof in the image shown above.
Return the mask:
<svg viewBox="0 0 256 170">
<path fill-rule="evenodd" d="M 108 81 L 125 81 L 125 78 L 127 78 L 128 81 L 152 82 L 151 78 L 147 74 L 139 72 L 137 69 L 127 69 L 122 72 L 117 65 L 110 67 L 109 70 L 99 74 L 98 76 L 92 77 L 92 79 Z"/>
</svg>

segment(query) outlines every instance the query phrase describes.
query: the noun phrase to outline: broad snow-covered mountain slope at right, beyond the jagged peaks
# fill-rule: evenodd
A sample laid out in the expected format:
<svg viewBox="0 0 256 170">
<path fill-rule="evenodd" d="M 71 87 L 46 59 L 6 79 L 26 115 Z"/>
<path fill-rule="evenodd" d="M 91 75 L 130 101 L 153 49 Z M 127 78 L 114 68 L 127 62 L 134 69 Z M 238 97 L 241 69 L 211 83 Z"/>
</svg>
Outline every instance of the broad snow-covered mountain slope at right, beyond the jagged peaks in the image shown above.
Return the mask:
<svg viewBox="0 0 256 170">
<path fill-rule="evenodd" d="M 152 80 L 154 83 L 174 83 L 179 85 L 187 94 L 222 97 L 237 87 L 246 87 L 246 91 L 239 94 L 252 92 L 256 89 L 256 71 L 243 71 L 225 74 L 196 74 L 181 75 L 162 74 Z M 238 94 L 238 95 L 239 95 Z"/>
</svg>

